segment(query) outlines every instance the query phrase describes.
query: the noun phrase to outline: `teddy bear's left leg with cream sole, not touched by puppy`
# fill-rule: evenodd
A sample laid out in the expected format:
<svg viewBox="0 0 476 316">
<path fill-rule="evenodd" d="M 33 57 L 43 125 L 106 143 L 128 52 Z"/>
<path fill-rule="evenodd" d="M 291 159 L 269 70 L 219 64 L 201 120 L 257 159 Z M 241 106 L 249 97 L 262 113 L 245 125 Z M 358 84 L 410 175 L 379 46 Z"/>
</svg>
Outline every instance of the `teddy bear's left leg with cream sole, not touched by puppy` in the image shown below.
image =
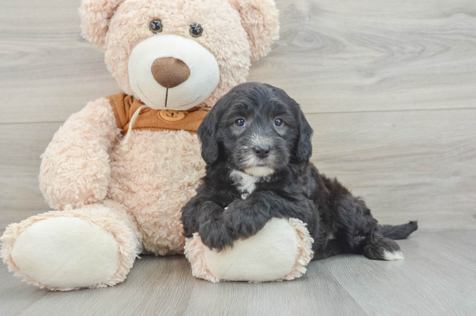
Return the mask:
<svg viewBox="0 0 476 316">
<path fill-rule="evenodd" d="M 23 281 L 68 291 L 115 285 L 140 253 L 134 219 L 113 201 L 50 211 L 11 224 L 1 257 Z"/>
</svg>

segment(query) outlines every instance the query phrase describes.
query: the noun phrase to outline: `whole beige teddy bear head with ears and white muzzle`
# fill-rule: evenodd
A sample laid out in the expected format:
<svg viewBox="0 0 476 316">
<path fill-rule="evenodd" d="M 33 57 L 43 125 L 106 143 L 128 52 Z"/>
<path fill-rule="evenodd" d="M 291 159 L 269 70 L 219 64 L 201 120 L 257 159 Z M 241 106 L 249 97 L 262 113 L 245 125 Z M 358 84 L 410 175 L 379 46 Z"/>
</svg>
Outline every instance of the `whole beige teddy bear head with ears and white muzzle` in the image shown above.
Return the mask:
<svg viewBox="0 0 476 316">
<path fill-rule="evenodd" d="M 80 16 L 119 87 L 154 109 L 213 106 L 278 37 L 273 0 L 83 0 Z"/>
</svg>

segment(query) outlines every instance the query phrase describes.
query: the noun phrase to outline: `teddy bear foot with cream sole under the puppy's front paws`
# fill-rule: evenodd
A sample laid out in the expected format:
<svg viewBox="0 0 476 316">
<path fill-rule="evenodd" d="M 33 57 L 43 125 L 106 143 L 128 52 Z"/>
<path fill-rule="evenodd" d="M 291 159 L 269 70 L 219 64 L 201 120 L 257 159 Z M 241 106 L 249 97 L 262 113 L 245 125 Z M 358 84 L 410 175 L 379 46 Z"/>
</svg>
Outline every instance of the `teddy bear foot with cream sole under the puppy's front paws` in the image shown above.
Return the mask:
<svg viewBox="0 0 476 316">
<path fill-rule="evenodd" d="M 273 218 L 254 236 L 220 252 L 195 233 L 187 238 L 185 255 L 192 274 L 212 282 L 292 280 L 306 272 L 313 242 L 300 220 Z"/>
</svg>

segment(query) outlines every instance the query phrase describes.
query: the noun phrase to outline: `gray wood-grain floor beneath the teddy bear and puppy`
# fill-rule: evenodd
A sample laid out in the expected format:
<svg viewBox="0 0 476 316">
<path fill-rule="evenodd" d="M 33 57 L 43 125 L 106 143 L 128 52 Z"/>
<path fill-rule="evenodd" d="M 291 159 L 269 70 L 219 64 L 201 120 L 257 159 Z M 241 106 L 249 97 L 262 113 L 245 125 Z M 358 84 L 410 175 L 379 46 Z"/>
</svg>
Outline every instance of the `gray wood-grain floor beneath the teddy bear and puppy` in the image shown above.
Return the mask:
<svg viewBox="0 0 476 316">
<path fill-rule="evenodd" d="M 315 261 L 301 279 L 211 283 L 183 256 L 144 256 L 123 283 L 49 292 L 0 266 L 1 315 L 473 315 L 476 230 L 415 232 L 405 260 L 340 255 Z"/>
</svg>

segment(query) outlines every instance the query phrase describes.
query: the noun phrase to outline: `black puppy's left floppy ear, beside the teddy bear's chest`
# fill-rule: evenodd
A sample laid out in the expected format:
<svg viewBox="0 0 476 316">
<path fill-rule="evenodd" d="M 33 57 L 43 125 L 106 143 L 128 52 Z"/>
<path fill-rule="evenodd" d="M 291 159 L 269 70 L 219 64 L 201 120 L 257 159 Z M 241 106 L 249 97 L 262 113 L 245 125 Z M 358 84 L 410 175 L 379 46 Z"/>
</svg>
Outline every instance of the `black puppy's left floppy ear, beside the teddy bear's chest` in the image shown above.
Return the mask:
<svg viewBox="0 0 476 316">
<path fill-rule="evenodd" d="M 198 139 L 202 146 L 202 158 L 206 164 L 212 164 L 218 159 L 217 125 L 218 120 L 213 108 L 197 129 Z"/>
</svg>

